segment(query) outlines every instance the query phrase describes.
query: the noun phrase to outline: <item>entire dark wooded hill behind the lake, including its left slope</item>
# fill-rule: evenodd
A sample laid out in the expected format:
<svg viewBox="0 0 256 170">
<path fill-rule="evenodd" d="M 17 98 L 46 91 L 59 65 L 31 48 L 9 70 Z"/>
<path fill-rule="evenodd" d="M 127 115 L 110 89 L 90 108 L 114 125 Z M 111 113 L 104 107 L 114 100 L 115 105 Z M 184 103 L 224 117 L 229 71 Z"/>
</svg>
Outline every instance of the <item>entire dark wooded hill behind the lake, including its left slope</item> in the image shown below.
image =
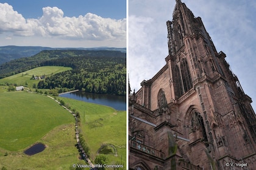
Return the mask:
<svg viewBox="0 0 256 170">
<path fill-rule="evenodd" d="M 0 66 L 2 77 L 39 66 L 72 67 L 46 77 L 38 89 L 68 88 L 99 94 L 126 95 L 126 53 L 109 50 L 44 50 Z M 4 74 L 2 74 L 4 73 Z"/>
</svg>

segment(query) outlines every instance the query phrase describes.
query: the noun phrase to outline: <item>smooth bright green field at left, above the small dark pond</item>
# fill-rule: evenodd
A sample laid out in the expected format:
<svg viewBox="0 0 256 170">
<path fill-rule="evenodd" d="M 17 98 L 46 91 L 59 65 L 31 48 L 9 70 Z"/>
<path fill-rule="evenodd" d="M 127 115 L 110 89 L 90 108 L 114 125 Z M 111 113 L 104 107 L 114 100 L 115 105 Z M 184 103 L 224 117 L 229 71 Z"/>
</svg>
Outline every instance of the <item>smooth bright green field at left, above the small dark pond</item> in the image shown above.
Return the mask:
<svg viewBox="0 0 256 170">
<path fill-rule="evenodd" d="M 0 86 L 4 87 L 4 86 Z M 1 92 L 0 148 L 18 151 L 74 118 L 51 98 L 29 92 Z"/>
</svg>

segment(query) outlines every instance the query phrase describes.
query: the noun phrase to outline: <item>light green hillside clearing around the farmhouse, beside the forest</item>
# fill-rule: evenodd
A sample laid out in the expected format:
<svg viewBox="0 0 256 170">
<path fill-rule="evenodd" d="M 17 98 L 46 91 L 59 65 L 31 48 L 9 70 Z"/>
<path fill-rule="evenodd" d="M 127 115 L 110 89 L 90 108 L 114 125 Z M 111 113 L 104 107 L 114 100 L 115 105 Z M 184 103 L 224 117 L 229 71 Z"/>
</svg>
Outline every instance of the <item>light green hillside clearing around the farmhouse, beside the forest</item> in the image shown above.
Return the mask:
<svg viewBox="0 0 256 170">
<path fill-rule="evenodd" d="M 0 79 L 0 84 L 17 84 L 17 86 L 25 86 L 27 83 L 27 87 L 32 88 L 33 84 L 38 84 L 40 80 L 30 80 L 32 76 L 41 76 L 46 75 L 50 76 L 51 74 L 64 72 L 66 70 L 71 70 L 71 67 L 61 67 L 61 66 L 43 66 L 37 67 L 35 69 L 27 70 L 26 72 L 21 72 L 16 75 L 12 75 L 10 77 L 5 77 Z"/>
</svg>

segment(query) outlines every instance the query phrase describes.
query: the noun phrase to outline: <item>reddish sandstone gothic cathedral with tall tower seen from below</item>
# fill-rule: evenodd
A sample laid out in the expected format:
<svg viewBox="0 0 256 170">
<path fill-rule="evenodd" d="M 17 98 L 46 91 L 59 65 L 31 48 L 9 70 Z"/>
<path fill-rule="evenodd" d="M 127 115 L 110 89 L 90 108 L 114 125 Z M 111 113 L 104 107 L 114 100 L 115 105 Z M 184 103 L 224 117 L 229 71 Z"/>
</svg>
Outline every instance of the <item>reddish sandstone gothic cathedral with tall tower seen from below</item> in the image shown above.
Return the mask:
<svg viewBox="0 0 256 170">
<path fill-rule="evenodd" d="M 129 95 L 129 169 L 254 169 L 251 98 L 200 17 L 180 0 L 166 64 Z"/>
</svg>

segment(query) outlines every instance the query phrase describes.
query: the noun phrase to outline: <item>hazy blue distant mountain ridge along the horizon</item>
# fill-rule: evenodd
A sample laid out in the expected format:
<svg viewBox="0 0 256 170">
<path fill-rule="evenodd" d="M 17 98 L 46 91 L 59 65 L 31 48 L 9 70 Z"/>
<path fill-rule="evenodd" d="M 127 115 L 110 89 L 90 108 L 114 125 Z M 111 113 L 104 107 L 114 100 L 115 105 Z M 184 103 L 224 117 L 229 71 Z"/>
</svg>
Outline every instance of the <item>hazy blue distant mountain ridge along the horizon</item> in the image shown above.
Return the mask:
<svg viewBox="0 0 256 170">
<path fill-rule="evenodd" d="M 93 47 L 93 48 L 51 48 L 41 46 L 2 46 L 0 47 L 0 65 L 9 61 L 34 56 L 43 50 L 112 50 L 126 53 L 126 48 Z"/>
</svg>

